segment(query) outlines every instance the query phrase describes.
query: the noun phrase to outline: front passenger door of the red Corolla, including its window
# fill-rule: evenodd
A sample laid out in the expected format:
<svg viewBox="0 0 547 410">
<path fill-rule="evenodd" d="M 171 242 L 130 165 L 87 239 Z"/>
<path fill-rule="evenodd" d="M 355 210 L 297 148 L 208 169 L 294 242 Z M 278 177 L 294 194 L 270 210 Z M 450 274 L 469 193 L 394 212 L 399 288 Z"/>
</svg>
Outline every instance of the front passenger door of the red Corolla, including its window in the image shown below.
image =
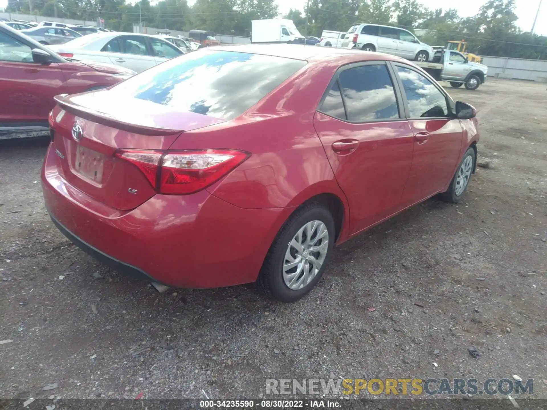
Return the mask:
<svg viewBox="0 0 547 410">
<path fill-rule="evenodd" d="M 415 136 L 414 155 L 403 206 L 440 192 L 455 172 L 463 142 L 462 125 L 453 119 L 443 89 L 414 67 L 394 63 L 403 90 L 405 115 Z"/>
</svg>

